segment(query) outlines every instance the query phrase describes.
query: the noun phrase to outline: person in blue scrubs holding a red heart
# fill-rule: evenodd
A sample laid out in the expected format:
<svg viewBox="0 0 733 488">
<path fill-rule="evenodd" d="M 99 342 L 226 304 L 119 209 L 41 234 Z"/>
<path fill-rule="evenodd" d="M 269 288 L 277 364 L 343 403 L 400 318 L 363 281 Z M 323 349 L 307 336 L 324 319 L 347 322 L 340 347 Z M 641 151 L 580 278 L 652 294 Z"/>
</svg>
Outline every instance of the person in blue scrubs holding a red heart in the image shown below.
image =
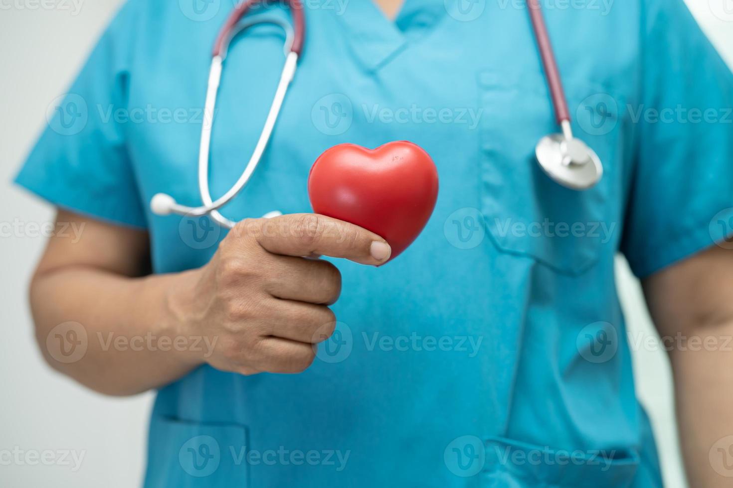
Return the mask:
<svg viewBox="0 0 733 488">
<path fill-rule="evenodd" d="M 222 209 L 232 230 L 148 206 L 200 204 L 226 0 L 129 0 L 18 174 L 84 224 L 49 239 L 32 279 L 46 359 L 105 394 L 158 389 L 145 486 L 660 487 L 617 252 L 660 334 L 682 338 L 665 345 L 690 484 L 729 486 L 733 76 L 682 1 L 545 9 L 572 130 L 604 163 L 583 191 L 534 159 L 556 124 L 523 2 L 304 7 L 268 149 Z M 271 26 L 232 43 L 214 198 L 254 148 L 281 47 Z M 309 214 L 306 179 L 336 143 L 398 139 L 431 154 L 441 191 L 380 266 L 380 236 Z"/>
</svg>

